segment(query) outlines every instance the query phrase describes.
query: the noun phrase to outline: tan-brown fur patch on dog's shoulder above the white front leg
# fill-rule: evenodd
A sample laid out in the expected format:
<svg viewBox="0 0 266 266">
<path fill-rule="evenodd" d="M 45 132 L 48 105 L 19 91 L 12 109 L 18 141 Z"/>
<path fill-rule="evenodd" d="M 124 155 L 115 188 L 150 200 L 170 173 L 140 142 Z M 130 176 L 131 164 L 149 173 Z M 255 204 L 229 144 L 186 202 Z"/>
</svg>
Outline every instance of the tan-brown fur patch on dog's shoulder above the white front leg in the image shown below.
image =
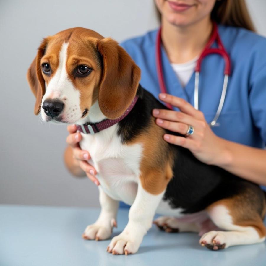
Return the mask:
<svg viewBox="0 0 266 266">
<path fill-rule="evenodd" d="M 142 187 L 155 195 L 163 192 L 173 177 L 173 155 L 163 140 L 164 133 L 164 129 L 157 126 L 151 117 L 149 127 L 133 140 L 134 144 L 140 143 L 143 147 L 140 162 Z"/>
</svg>

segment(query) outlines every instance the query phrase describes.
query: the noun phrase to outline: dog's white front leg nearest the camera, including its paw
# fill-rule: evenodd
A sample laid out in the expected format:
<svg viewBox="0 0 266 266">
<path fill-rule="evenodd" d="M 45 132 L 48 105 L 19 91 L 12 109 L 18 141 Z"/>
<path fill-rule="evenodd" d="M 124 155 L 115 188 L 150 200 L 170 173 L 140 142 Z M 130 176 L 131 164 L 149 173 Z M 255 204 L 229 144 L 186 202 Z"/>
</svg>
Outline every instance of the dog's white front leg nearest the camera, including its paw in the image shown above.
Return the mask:
<svg viewBox="0 0 266 266">
<path fill-rule="evenodd" d="M 137 196 L 129 210 L 128 224 L 121 234 L 112 239 L 108 252 L 126 255 L 137 252 L 143 236 L 152 226 L 155 210 L 163 194 L 164 191 L 157 195 L 151 194 L 139 182 Z"/>
</svg>

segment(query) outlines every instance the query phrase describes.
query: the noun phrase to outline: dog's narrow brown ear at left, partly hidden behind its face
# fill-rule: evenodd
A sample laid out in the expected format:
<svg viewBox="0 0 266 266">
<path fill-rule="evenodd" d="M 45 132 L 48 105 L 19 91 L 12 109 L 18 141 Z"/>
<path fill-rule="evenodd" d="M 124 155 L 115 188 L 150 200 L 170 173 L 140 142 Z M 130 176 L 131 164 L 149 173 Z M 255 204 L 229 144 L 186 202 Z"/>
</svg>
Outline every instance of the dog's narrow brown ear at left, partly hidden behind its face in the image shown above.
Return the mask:
<svg viewBox="0 0 266 266">
<path fill-rule="evenodd" d="M 42 76 L 42 70 L 40 67 L 40 60 L 45 53 L 45 49 L 48 43 L 48 39 L 43 39 L 40 47 L 38 48 L 37 55 L 30 65 L 27 72 L 27 80 L 33 94 L 36 97 L 36 103 L 34 107 L 34 113 L 37 115 L 40 112 L 42 97 L 45 94 L 45 82 Z"/>
</svg>

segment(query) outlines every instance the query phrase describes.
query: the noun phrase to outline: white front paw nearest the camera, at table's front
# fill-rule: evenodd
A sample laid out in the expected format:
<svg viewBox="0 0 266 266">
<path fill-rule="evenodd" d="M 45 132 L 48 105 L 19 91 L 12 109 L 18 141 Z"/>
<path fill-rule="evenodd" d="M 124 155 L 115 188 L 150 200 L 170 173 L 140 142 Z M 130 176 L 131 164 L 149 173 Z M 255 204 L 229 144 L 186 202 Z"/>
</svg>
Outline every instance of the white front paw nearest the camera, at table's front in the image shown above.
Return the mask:
<svg viewBox="0 0 266 266">
<path fill-rule="evenodd" d="M 132 234 L 123 231 L 120 235 L 113 237 L 107 252 L 113 255 L 134 254 L 138 251 L 141 241 L 142 237 L 136 235 L 133 237 Z"/>
</svg>

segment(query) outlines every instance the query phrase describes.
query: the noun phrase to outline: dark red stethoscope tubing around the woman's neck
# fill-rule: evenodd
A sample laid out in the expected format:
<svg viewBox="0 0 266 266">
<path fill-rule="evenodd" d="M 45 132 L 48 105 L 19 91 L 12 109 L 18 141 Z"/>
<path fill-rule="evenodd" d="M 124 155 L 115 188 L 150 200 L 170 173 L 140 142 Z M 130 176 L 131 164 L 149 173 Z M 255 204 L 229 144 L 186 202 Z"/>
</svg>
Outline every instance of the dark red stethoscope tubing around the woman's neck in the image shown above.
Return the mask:
<svg viewBox="0 0 266 266">
<path fill-rule="evenodd" d="M 215 41 L 217 42 L 218 48 L 211 48 L 211 46 L 213 45 L 213 43 L 215 43 Z M 158 30 L 158 34 L 156 37 L 156 43 L 155 43 L 156 71 L 157 71 L 160 91 L 161 91 L 161 93 L 167 93 L 166 85 L 165 85 L 165 81 L 164 81 L 164 77 L 163 77 L 161 42 L 162 41 L 161 41 L 161 28 L 160 28 Z M 223 57 L 223 60 L 225 62 L 224 75 L 229 76 L 230 72 L 231 72 L 230 57 L 223 46 L 223 43 L 222 43 L 220 36 L 218 34 L 217 24 L 215 22 L 213 22 L 213 30 L 212 30 L 210 40 L 206 44 L 205 48 L 203 49 L 203 51 L 202 51 L 202 53 L 201 53 L 201 55 L 197 61 L 197 64 L 195 67 L 195 72 L 200 72 L 201 63 L 202 63 L 202 60 L 204 59 L 204 57 L 209 55 L 209 54 L 213 54 L 213 53 L 219 54 L 220 56 Z M 169 109 L 173 110 L 173 106 L 171 106 L 171 104 L 166 103 L 166 106 Z"/>
</svg>

